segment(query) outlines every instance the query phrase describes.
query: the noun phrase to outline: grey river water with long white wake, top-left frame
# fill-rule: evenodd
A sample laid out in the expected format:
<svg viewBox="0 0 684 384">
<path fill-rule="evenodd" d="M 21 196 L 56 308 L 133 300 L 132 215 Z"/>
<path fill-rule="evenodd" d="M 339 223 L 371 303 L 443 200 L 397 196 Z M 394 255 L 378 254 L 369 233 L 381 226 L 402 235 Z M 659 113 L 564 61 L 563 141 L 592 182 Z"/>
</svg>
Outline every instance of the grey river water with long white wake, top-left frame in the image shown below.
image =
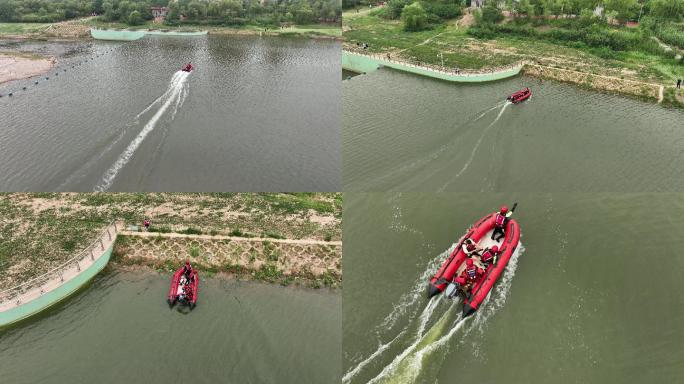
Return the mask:
<svg viewBox="0 0 684 384">
<path fill-rule="evenodd" d="M 340 189 L 337 42 L 147 36 L 0 49 L 58 60 L 46 76 L 0 85 L 2 191 Z M 190 74 L 179 71 L 187 62 Z"/>
</svg>

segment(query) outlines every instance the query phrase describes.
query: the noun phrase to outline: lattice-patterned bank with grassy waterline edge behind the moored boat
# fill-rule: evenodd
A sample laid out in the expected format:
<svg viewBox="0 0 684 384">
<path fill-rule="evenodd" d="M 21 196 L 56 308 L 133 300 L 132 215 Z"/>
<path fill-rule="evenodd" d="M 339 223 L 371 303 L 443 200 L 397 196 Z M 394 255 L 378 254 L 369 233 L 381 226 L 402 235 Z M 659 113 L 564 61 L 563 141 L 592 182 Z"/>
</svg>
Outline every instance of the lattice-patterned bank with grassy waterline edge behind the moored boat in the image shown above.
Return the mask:
<svg viewBox="0 0 684 384">
<path fill-rule="evenodd" d="M 117 237 L 114 267 L 146 267 L 161 273 L 178 269 L 184 260 L 203 278 L 215 275 L 313 288 L 342 284 L 339 242 L 287 243 L 274 239 L 164 235 Z"/>
</svg>

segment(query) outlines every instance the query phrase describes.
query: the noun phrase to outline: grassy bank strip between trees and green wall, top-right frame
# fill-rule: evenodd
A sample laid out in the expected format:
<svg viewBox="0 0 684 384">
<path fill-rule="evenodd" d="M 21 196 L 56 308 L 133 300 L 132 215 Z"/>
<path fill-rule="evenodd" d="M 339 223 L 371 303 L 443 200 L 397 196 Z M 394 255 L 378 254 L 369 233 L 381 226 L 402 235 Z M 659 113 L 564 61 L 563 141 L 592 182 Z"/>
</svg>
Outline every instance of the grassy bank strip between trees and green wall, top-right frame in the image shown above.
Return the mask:
<svg viewBox="0 0 684 384">
<path fill-rule="evenodd" d="M 358 43 L 367 43 L 367 51 L 372 53 L 390 53 L 393 58 L 416 64 L 444 64 L 461 70 L 487 70 L 526 61 L 550 69 L 603 76 L 616 84 L 611 89 L 589 85 L 599 90 L 631 95 L 621 91 L 622 80 L 663 85 L 666 94 L 672 94 L 663 102 L 684 106 L 684 92 L 673 88 L 678 78 L 684 78 L 684 65 L 673 53 L 666 54 L 664 50 L 659 53 L 655 41 L 655 47 L 649 44 L 649 50 L 597 49 L 539 37 L 551 33 L 549 26 L 536 27 L 542 32 L 532 36 L 505 33 L 505 28 L 484 31 L 475 26 L 470 14 L 418 32 L 406 31 L 400 20 L 385 19 L 373 11 L 352 13 L 343 23 L 345 45 L 350 49 L 357 49 Z M 534 76 L 539 71 L 529 73 Z M 574 79 L 568 77 L 566 81 L 572 83 Z M 579 80 L 577 84 L 587 85 Z M 653 95 L 649 98 L 655 99 Z"/>
</svg>

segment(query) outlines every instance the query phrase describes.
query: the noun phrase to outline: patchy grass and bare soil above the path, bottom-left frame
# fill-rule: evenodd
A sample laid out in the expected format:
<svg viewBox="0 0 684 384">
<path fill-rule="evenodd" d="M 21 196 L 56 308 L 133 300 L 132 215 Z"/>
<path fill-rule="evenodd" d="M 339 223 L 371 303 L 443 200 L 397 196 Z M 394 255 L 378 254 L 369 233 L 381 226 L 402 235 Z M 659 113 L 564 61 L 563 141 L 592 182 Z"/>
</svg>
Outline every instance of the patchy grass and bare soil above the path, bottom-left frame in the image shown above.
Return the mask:
<svg viewBox="0 0 684 384">
<path fill-rule="evenodd" d="M 0 288 L 44 273 L 111 221 L 157 233 L 340 241 L 341 194 L 0 194 Z M 334 263 L 334 261 L 331 261 Z"/>
</svg>

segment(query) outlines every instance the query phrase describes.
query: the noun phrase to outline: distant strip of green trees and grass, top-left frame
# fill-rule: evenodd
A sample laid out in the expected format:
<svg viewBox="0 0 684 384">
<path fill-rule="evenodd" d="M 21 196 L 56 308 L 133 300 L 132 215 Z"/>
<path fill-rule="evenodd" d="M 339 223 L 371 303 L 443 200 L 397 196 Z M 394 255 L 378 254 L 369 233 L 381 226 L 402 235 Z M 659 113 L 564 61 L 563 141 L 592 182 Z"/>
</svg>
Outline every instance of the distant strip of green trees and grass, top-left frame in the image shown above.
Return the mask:
<svg viewBox="0 0 684 384">
<path fill-rule="evenodd" d="M 0 22 L 53 23 L 98 15 L 104 22 L 142 25 L 151 7 L 168 7 L 167 25 L 259 25 L 339 23 L 336 0 L 0 0 Z"/>
</svg>

